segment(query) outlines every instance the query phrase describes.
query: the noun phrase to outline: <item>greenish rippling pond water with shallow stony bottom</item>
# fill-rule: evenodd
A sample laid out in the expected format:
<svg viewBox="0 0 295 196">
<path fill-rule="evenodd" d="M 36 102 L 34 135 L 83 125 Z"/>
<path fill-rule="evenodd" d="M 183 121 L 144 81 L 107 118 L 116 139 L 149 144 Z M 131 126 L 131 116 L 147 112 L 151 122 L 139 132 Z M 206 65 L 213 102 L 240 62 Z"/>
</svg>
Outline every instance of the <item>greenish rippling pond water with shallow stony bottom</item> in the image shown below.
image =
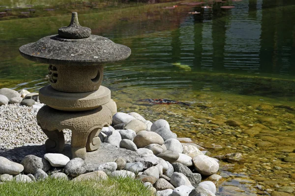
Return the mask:
<svg viewBox="0 0 295 196">
<path fill-rule="evenodd" d="M 105 67 L 103 85 L 112 90 L 118 111 L 138 112 L 152 122 L 165 119 L 178 137 L 192 138 L 222 159 L 224 180 L 216 195 L 293 194 L 293 0 L 10 2 L 0 7 L 6 13 L 0 15 L 0 88 L 37 92 L 49 84 L 47 65 L 27 61 L 18 48 L 56 34 L 78 11 L 80 24 L 93 34 L 132 49 L 127 60 Z M 34 11 L 20 13 L 28 9 Z M 191 106 L 139 101 L 145 98 Z M 227 153 L 243 159 L 235 162 Z"/>
</svg>

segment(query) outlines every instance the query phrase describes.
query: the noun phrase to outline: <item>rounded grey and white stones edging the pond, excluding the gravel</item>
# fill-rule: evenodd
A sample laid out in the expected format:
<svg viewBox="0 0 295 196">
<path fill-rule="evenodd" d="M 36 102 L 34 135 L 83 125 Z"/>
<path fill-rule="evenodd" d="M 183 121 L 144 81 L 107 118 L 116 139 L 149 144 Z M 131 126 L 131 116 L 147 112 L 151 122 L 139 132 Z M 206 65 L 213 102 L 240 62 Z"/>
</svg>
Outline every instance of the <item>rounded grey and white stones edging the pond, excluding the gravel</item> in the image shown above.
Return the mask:
<svg viewBox="0 0 295 196">
<path fill-rule="evenodd" d="M 16 93 L 0 89 L 0 105 L 3 105 L 1 99 L 10 102 L 16 96 L 20 100 L 21 94 Z M 23 97 L 32 100 L 35 108 L 43 106 L 37 102 L 37 94 Z M 112 125 L 104 127 L 98 135 L 102 143 L 97 151 L 104 148 L 107 151 L 104 153 L 113 154 L 108 159 L 97 156 L 94 158 L 101 159 L 100 162 L 89 164 L 87 159 L 70 160 L 63 154 L 46 153 L 43 157 L 29 154 L 17 163 L 9 156 L 5 158 L 2 152 L 1 183 L 13 179 L 31 182 L 48 176 L 72 181 L 101 180 L 108 175 L 129 176 L 141 180 L 157 196 L 215 196 L 216 186 L 212 181 L 222 178 L 215 174 L 219 169 L 218 160 L 207 156 L 207 151 L 189 138 L 177 138 L 166 120 L 151 123 L 135 112 L 117 112 Z M 202 178 L 212 181 L 201 182 Z"/>
</svg>

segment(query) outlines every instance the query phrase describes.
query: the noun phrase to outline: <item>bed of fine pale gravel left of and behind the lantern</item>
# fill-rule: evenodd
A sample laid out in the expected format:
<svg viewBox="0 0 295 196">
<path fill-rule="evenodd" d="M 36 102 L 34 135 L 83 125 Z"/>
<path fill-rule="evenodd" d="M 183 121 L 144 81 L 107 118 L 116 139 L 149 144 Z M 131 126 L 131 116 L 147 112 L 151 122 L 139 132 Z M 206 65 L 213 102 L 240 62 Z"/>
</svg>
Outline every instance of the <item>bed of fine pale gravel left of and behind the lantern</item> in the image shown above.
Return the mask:
<svg viewBox="0 0 295 196">
<path fill-rule="evenodd" d="M 0 151 L 28 144 L 45 144 L 47 136 L 37 125 L 38 108 L 19 104 L 0 106 Z M 71 130 L 64 129 L 66 142 L 71 140 Z"/>
</svg>

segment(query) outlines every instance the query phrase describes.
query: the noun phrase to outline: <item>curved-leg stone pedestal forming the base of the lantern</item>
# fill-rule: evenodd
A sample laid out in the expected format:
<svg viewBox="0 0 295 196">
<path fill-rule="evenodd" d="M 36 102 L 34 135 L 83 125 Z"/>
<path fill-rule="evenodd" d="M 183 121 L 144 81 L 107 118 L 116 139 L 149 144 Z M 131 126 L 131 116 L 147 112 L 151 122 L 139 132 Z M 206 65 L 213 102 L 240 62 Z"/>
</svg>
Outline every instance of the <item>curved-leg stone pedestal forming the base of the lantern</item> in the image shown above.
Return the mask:
<svg viewBox="0 0 295 196">
<path fill-rule="evenodd" d="M 81 112 L 69 112 L 42 107 L 37 113 L 37 123 L 48 136 L 45 143 L 46 151 L 61 152 L 64 147 L 63 129 L 72 131 L 72 158 L 86 158 L 86 151 L 100 147 L 99 132 L 104 126 L 112 123 L 116 103 L 109 102 L 98 108 Z"/>
</svg>

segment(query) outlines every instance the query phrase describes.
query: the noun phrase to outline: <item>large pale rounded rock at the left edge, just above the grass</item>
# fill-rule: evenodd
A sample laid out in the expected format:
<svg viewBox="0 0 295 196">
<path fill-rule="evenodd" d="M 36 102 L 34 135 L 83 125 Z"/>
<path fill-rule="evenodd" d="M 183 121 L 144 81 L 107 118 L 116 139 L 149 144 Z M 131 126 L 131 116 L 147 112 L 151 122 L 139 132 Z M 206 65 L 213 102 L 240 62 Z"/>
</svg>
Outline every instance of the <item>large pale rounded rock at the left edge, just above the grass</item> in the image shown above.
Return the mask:
<svg viewBox="0 0 295 196">
<path fill-rule="evenodd" d="M 0 156 L 0 173 L 1 174 L 16 175 L 23 171 L 24 171 L 23 165 L 9 161 L 5 157 Z"/>
</svg>

